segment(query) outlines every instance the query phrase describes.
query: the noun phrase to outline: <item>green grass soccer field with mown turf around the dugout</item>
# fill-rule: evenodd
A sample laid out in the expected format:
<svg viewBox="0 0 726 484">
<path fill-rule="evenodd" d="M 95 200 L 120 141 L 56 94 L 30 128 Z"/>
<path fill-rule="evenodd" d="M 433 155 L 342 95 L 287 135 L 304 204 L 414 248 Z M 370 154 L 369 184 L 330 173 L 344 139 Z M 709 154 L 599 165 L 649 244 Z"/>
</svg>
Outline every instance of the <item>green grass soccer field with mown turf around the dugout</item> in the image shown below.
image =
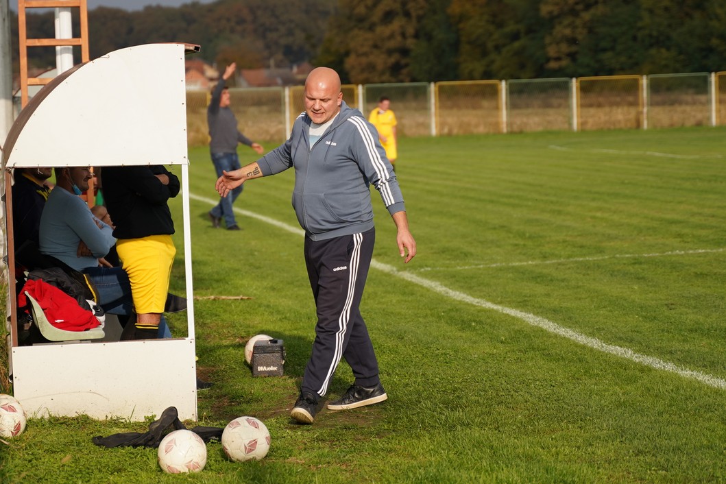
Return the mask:
<svg viewBox="0 0 726 484">
<path fill-rule="evenodd" d="M 312 426 L 289 417 L 315 322 L 293 173 L 248 183 L 243 231 L 212 229 L 216 177 L 207 149 L 192 149 L 195 296 L 251 298 L 195 302 L 197 368 L 215 384 L 200 424 L 258 417 L 269 455 L 234 464 L 210 443 L 203 472 L 170 476 L 155 449 L 91 443 L 147 424 L 31 419 L 0 443 L 0 481 L 724 482 L 725 139 L 725 128 L 402 139 L 418 255 L 402 263 L 374 192 L 362 303 L 389 399 Z M 176 335 L 184 318 L 171 316 Z M 258 333 L 285 340 L 285 377 L 251 377 L 242 349 Z M 350 382 L 341 363 L 329 398 Z"/>
</svg>

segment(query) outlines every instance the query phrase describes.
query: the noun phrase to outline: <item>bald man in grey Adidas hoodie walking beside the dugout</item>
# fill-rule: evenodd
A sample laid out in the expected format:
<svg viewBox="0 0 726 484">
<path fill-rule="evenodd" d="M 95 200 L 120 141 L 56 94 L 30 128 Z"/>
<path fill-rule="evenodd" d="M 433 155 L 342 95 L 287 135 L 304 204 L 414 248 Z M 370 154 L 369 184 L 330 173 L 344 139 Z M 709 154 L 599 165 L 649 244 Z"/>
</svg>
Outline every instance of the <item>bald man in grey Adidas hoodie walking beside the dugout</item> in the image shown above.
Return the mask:
<svg viewBox="0 0 726 484">
<path fill-rule="evenodd" d="M 248 179 L 287 168 L 295 169 L 293 207 L 306 233 L 305 261 L 317 306 L 312 353 L 290 416 L 311 424 L 340 358 L 351 366 L 355 381 L 328 409 L 354 409 L 388 398 L 359 311 L 375 241 L 370 184 L 396 223 L 396 243 L 406 263 L 416 255 L 416 242 L 378 132 L 343 102 L 335 70 L 312 70 L 305 83 L 305 112 L 295 120 L 290 138 L 255 163 L 225 171 L 216 189 L 224 197 Z"/>
</svg>

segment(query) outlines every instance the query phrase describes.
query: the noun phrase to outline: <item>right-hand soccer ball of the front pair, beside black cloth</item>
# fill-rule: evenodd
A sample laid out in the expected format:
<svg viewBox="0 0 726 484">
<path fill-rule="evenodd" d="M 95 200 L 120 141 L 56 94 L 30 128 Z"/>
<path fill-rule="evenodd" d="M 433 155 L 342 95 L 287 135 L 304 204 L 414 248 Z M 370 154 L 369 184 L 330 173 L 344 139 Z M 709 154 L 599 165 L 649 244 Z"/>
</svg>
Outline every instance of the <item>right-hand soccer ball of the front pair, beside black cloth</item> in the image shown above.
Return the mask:
<svg viewBox="0 0 726 484">
<path fill-rule="evenodd" d="M 269 430 L 255 417 L 237 417 L 222 432 L 224 454 L 234 462 L 264 459 L 270 442 Z"/>
</svg>

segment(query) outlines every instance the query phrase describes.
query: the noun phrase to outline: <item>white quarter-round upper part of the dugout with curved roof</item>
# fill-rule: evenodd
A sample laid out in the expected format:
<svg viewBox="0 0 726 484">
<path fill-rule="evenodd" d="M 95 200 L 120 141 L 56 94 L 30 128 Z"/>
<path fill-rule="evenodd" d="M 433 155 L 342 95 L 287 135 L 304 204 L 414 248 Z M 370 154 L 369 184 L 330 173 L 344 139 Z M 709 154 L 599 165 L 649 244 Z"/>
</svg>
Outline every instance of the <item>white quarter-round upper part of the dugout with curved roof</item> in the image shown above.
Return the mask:
<svg viewBox="0 0 726 484">
<path fill-rule="evenodd" d="M 184 54 L 198 50 L 128 47 L 62 73 L 13 123 L 3 168 L 187 164 Z"/>
</svg>

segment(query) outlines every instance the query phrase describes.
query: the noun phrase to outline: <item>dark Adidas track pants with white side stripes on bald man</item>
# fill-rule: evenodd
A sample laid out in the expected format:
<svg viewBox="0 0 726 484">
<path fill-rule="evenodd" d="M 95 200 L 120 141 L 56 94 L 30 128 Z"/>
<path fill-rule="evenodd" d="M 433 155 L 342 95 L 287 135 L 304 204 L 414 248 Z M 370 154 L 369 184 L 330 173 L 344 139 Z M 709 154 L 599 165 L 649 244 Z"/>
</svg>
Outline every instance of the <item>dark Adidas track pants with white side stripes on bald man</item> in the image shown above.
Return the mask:
<svg viewBox="0 0 726 484">
<path fill-rule="evenodd" d="M 340 358 L 356 385 L 378 384 L 378 361 L 359 305 L 373 256 L 375 229 L 313 241 L 305 238 L 305 263 L 317 307 L 315 341 L 301 390 L 324 396 Z"/>
</svg>

